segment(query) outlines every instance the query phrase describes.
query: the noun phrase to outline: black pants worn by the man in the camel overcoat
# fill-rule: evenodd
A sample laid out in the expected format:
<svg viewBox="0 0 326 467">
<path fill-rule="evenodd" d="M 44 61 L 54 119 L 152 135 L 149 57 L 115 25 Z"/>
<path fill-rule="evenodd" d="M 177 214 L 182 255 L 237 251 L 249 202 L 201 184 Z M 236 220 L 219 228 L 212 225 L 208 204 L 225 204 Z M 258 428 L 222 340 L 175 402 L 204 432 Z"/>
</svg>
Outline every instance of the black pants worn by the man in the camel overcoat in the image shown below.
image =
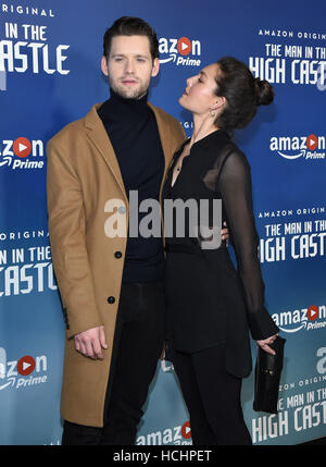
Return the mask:
<svg viewBox="0 0 326 467">
<path fill-rule="evenodd" d="M 104 427 L 64 421 L 63 445 L 131 445 L 164 343 L 162 282 L 124 283 L 117 311 Z"/>
</svg>

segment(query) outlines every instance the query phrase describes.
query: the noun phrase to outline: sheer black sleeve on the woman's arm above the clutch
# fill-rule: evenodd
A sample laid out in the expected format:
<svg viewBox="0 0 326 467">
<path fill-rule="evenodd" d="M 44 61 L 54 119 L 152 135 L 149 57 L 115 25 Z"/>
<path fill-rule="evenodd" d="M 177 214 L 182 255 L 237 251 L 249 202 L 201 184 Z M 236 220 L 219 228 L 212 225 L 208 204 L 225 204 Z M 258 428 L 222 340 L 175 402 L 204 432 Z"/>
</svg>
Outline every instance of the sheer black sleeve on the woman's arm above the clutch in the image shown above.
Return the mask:
<svg viewBox="0 0 326 467">
<path fill-rule="evenodd" d="M 240 150 L 235 149 L 224 158 L 217 184 L 237 257 L 251 335 L 254 340 L 266 339 L 279 330 L 264 307 L 265 285 L 258 256 L 250 165 Z"/>
</svg>

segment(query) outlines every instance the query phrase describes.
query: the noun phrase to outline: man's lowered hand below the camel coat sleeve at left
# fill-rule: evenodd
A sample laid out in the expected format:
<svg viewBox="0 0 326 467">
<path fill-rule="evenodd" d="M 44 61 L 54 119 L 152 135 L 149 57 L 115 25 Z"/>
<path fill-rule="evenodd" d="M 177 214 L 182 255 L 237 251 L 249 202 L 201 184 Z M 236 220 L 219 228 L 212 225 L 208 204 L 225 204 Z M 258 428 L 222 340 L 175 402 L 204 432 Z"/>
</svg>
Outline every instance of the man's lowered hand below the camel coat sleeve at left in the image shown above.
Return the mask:
<svg viewBox="0 0 326 467">
<path fill-rule="evenodd" d="M 74 336 L 76 351 L 85 357 L 103 359 L 102 348 L 108 348 L 104 327 L 91 328 Z"/>
</svg>

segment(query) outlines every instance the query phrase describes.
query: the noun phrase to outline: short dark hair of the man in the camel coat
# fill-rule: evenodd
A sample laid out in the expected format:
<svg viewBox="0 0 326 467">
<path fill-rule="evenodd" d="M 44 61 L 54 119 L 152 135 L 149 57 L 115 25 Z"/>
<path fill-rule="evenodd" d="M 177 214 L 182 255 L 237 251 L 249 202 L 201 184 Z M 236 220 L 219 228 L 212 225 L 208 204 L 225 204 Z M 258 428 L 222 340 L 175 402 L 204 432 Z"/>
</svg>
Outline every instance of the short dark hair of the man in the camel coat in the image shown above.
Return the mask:
<svg viewBox="0 0 326 467">
<path fill-rule="evenodd" d="M 112 38 L 116 36 L 147 36 L 152 59 L 159 58 L 159 40 L 154 29 L 146 21 L 136 16 L 122 16 L 116 20 L 103 37 L 103 56 L 109 58 Z"/>
</svg>

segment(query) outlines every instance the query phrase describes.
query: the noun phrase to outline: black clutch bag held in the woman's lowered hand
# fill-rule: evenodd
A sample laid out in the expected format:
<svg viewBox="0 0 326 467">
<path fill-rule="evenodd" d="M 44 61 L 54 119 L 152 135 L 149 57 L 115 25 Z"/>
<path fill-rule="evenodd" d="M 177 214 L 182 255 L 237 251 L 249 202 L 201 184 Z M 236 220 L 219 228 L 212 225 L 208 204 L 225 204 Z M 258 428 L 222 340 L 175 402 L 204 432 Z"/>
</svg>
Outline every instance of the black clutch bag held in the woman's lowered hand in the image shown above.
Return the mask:
<svg viewBox="0 0 326 467">
<path fill-rule="evenodd" d="M 268 344 L 276 352 L 276 355 L 267 354 L 261 347 L 258 348 L 253 401 L 253 409 L 255 411 L 277 414 L 278 389 L 285 343 L 285 339 L 277 336 L 273 344 Z"/>
</svg>

